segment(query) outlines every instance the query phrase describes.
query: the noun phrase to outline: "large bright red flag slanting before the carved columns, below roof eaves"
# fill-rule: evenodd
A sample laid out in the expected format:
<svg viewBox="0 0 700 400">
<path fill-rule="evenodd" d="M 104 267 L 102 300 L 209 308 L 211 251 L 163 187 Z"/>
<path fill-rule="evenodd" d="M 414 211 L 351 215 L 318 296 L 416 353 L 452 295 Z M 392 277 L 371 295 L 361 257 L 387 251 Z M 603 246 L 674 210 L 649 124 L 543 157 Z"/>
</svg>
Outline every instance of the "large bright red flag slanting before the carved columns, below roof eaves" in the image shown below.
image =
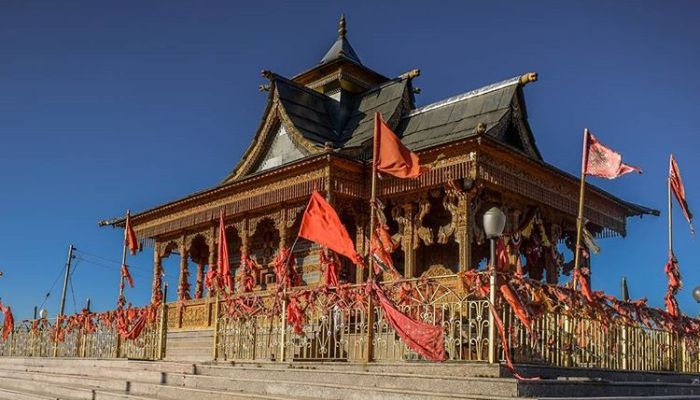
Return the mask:
<svg viewBox="0 0 700 400">
<path fill-rule="evenodd" d="M 301 219 L 299 236 L 327 247 L 362 265 L 362 257 L 355 251 L 350 235 L 340 222 L 333 207 L 318 192 L 311 194 Z"/>
</svg>

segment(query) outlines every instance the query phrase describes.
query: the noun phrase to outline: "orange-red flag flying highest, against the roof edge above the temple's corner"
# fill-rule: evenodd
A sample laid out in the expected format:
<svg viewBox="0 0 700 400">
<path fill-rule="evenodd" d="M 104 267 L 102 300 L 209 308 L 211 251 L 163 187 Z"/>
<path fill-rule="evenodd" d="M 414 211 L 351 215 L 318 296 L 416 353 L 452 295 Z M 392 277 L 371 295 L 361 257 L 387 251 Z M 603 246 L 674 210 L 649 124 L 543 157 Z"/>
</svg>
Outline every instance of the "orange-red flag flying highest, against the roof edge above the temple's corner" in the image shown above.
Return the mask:
<svg viewBox="0 0 700 400">
<path fill-rule="evenodd" d="M 374 165 L 378 172 L 398 178 L 417 178 L 427 171 L 420 166 L 418 155 L 401 143 L 379 113 L 374 114 L 374 136 Z"/>
</svg>

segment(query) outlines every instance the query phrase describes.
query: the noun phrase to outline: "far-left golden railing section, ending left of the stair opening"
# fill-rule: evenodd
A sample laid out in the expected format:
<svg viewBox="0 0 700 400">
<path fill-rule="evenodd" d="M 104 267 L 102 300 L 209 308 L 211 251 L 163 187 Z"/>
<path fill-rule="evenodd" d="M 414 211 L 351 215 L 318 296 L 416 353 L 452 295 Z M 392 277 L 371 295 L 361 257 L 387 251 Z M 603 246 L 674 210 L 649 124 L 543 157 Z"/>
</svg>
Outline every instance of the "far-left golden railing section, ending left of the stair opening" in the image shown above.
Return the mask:
<svg viewBox="0 0 700 400">
<path fill-rule="evenodd" d="M 58 332 L 55 319 L 20 321 L 7 340 L 0 343 L 0 356 L 161 359 L 162 315 L 159 308 L 155 318 L 148 320 L 134 339 L 124 339 L 118 334 L 116 320 L 102 320 L 95 314 L 89 328 L 62 322 Z"/>
</svg>

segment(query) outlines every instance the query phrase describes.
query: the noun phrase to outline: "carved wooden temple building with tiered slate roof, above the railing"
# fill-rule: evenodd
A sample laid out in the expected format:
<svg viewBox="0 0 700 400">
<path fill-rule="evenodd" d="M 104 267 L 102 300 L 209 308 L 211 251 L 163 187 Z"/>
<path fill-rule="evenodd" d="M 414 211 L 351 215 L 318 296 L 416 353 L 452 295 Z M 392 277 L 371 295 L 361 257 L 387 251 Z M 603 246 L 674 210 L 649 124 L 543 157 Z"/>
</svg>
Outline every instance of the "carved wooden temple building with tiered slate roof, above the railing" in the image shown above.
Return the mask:
<svg viewBox="0 0 700 400">
<path fill-rule="evenodd" d="M 578 179 L 547 164 L 537 148 L 525 101 L 536 73 L 417 106 L 419 70 L 389 78 L 365 66 L 343 18 L 337 39 L 316 65 L 291 78 L 262 74 L 269 82 L 261 85 L 268 92 L 262 120 L 231 172 L 210 189 L 131 216 L 139 239 L 154 248 L 154 293 L 161 287 L 162 259 L 178 255 L 178 298 L 205 295 L 204 274 L 216 264 L 222 211 L 237 285 L 247 273 L 254 275 L 255 290 L 273 289 L 274 257 L 294 242 L 313 191 L 325 194 L 358 251 L 366 253 L 375 112 L 433 164 L 415 180 L 379 180 L 378 196 L 400 243 L 394 261 L 406 278 L 483 265 L 488 246 L 477 221 L 494 205 L 507 215 L 504 245 L 513 268 L 522 264 L 526 276 L 548 283 L 568 273 L 571 256 L 558 244 L 571 249 L 575 241 Z M 595 187 L 589 191 L 585 216 L 596 237 L 624 236 L 628 217 L 658 214 Z M 107 223 L 124 226 L 125 220 Z M 293 252 L 303 284 L 319 285 L 319 247 L 302 239 Z M 243 271 L 241 255 L 259 269 Z M 341 280 L 359 283 L 362 274 L 346 263 Z"/>
</svg>

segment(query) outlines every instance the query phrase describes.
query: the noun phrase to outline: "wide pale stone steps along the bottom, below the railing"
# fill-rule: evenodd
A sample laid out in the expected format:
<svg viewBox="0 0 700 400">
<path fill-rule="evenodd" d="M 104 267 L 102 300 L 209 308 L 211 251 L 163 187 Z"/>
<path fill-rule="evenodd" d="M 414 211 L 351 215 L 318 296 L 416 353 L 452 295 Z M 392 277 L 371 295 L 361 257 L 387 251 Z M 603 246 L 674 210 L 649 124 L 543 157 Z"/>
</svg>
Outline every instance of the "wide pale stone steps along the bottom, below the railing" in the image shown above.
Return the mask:
<svg viewBox="0 0 700 400">
<path fill-rule="evenodd" d="M 698 375 L 499 365 L 185 363 L 0 358 L 0 399 L 700 399 Z"/>
</svg>

